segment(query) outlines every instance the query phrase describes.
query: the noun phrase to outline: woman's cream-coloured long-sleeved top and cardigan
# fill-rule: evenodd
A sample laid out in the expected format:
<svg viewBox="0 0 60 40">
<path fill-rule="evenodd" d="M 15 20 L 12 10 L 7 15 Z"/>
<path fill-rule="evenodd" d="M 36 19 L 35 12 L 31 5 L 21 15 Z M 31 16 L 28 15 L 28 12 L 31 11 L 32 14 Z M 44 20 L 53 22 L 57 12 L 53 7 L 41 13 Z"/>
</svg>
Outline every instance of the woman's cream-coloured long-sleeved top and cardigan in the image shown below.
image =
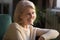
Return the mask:
<svg viewBox="0 0 60 40">
<path fill-rule="evenodd" d="M 45 32 L 43 34 L 43 32 Z M 45 40 L 50 40 L 56 38 L 59 33 L 53 29 L 41 29 L 36 28 L 31 25 L 28 26 L 28 29 L 25 30 L 18 23 L 12 23 L 7 29 L 3 40 L 35 40 L 36 34 L 41 34 Z"/>
</svg>

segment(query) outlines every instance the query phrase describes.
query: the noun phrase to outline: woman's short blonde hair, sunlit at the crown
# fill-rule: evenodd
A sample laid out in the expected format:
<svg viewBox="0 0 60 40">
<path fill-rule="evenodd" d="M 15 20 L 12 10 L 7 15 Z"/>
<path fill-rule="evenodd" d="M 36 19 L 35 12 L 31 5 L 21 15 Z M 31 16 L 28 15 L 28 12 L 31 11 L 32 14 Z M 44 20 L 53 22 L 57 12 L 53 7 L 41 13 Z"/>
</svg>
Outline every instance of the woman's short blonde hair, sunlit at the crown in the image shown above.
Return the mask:
<svg viewBox="0 0 60 40">
<path fill-rule="evenodd" d="M 16 6 L 16 9 L 15 9 L 15 12 L 14 12 L 14 16 L 13 16 L 14 22 L 17 22 L 17 23 L 20 22 L 20 18 L 19 17 L 22 14 L 24 8 L 27 7 L 27 6 L 35 9 L 35 5 L 34 5 L 33 2 L 28 1 L 28 0 L 26 0 L 26 1 L 19 1 L 19 3 Z"/>
</svg>

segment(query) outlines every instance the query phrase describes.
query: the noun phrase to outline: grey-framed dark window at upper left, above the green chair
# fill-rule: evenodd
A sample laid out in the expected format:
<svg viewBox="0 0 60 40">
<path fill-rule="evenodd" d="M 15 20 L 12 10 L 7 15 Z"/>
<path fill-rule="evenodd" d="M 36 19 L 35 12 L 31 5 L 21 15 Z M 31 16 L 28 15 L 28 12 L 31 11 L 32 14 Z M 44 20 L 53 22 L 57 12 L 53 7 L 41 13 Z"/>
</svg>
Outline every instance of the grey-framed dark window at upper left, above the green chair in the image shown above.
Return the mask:
<svg viewBox="0 0 60 40">
<path fill-rule="evenodd" d="M 13 0 L 0 0 L 0 14 L 10 14 L 13 11 Z"/>
</svg>

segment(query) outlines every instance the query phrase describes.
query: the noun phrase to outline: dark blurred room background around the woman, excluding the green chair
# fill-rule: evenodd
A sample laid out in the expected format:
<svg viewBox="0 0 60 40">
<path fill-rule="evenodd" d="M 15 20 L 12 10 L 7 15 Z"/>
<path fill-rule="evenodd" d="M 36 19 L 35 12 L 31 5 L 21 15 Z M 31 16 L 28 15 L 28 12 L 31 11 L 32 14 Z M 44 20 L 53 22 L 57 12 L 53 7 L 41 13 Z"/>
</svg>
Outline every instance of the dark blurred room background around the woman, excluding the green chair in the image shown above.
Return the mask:
<svg viewBox="0 0 60 40">
<path fill-rule="evenodd" d="M 9 14 L 12 17 L 16 4 L 20 0 L 0 0 L 0 14 Z M 60 32 L 60 0 L 30 0 L 36 5 L 37 19 L 35 27 L 56 29 Z M 55 39 L 59 40 L 60 36 Z"/>
</svg>

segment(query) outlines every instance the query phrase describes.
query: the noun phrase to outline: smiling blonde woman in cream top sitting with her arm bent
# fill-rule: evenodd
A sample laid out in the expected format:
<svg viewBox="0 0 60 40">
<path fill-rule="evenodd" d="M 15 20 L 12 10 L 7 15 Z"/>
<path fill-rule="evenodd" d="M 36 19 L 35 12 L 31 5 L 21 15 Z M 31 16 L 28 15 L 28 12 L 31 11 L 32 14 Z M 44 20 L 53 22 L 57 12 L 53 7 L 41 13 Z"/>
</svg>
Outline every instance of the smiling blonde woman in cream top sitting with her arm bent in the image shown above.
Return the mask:
<svg viewBox="0 0 60 40">
<path fill-rule="evenodd" d="M 7 29 L 3 40 L 50 40 L 59 35 L 57 30 L 33 27 L 36 19 L 35 5 L 31 1 L 19 1 L 14 13 L 14 23 Z"/>
</svg>

